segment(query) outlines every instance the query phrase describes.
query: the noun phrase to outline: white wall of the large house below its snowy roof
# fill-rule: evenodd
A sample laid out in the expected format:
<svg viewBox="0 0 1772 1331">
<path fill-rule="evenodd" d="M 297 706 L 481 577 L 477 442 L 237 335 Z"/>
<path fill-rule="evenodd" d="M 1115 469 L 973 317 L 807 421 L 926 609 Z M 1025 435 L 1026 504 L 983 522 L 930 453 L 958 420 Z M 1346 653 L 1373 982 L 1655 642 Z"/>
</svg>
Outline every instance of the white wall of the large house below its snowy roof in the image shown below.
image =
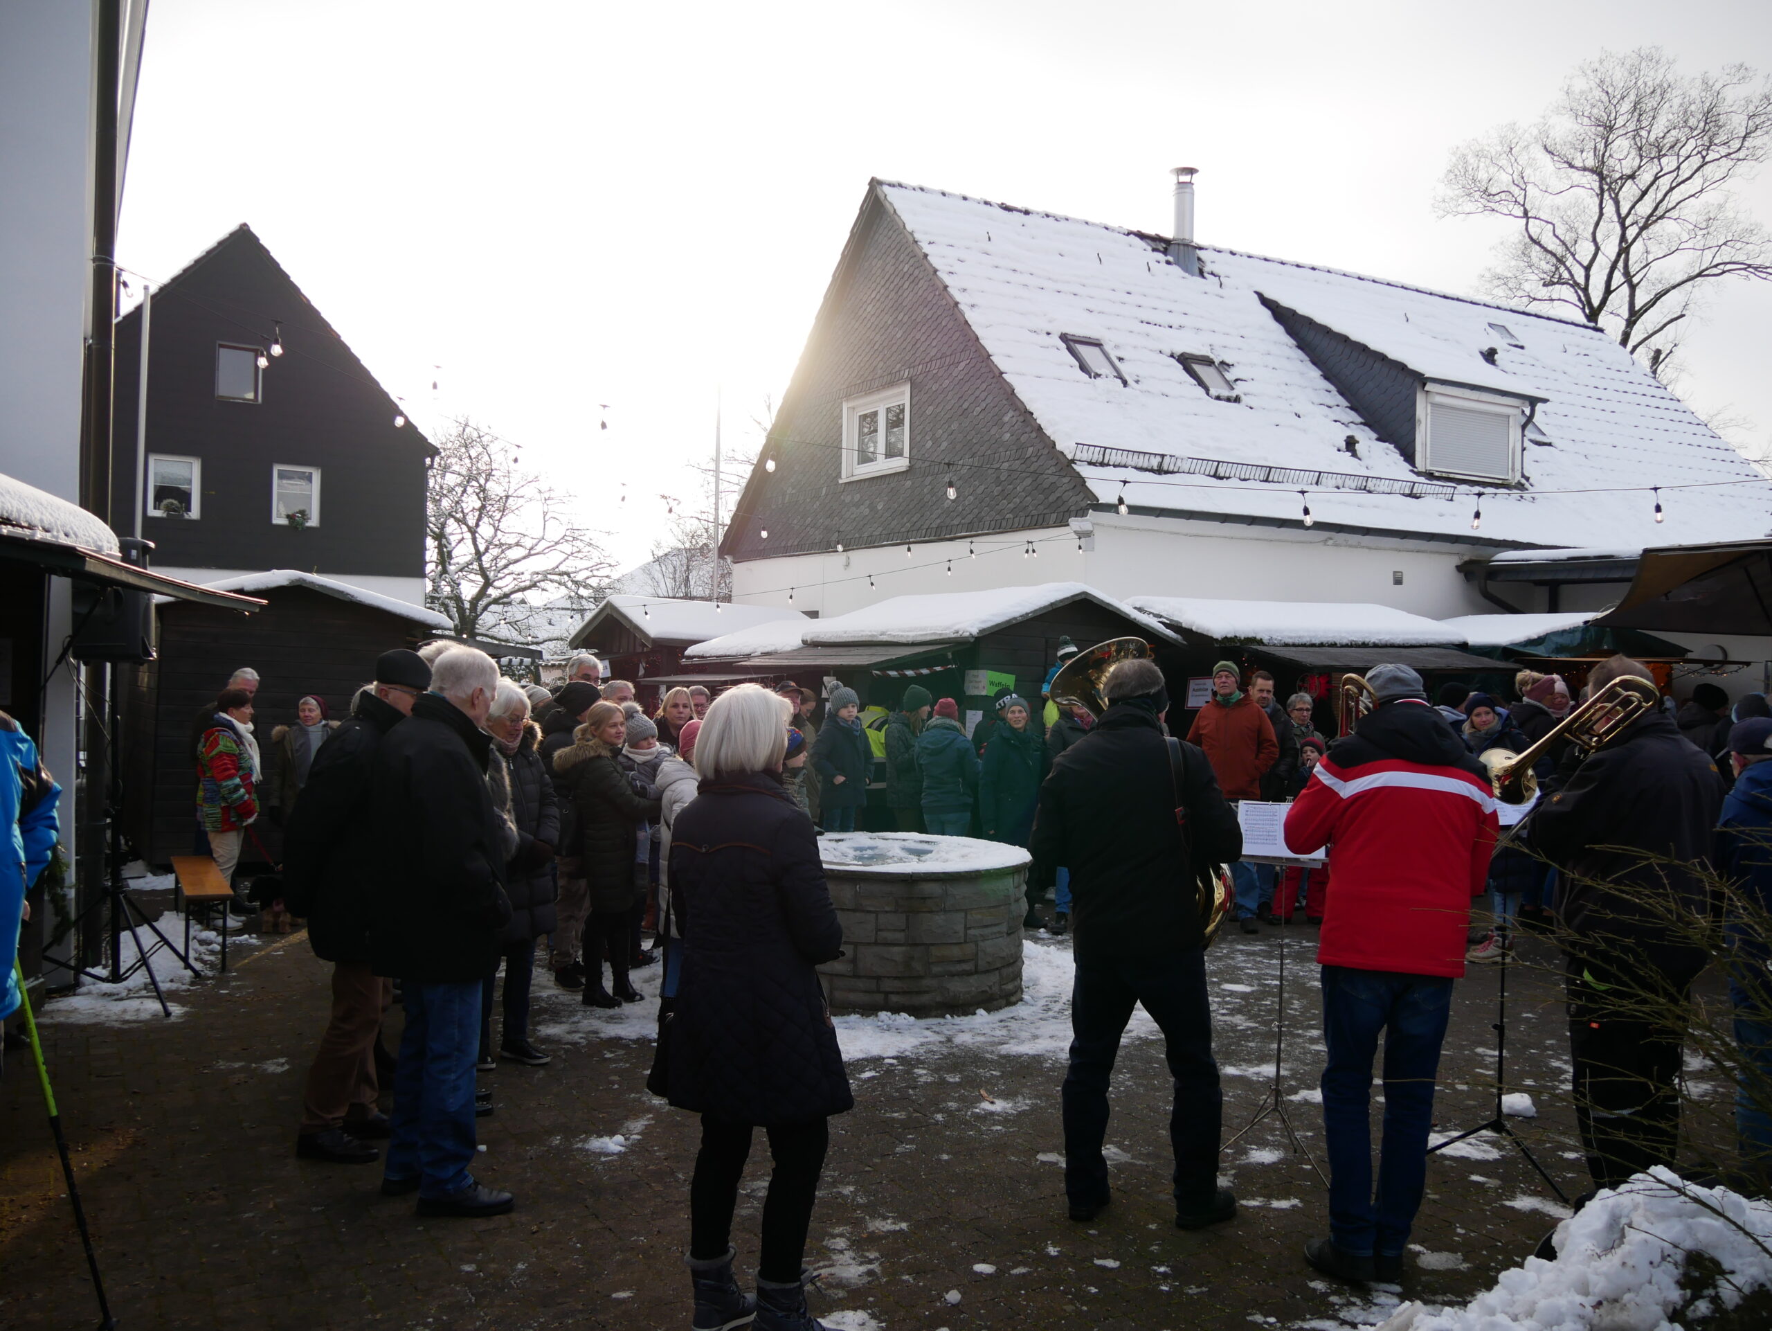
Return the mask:
<svg viewBox="0 0 1772 1331">
<path fill-rule="evenodd" d="M 1028 541 L 1037 557 L 1022 555 Z M 916 544 L 909 555 L 904 546 L 888 546 L 744 560 L 734 567 L 734 601 L 831 617 L 890 595 L 1081 581 L 1115 597 L 1368 601 L 1430 619 L 1494 610 L 1458 572 L 1458 562 L 1473 553 L 1458 546 L 1421 551 L 1402 542 L 1384 548 L 1347 537 L 1116 514 L 1097 516 L 1093 541 L 1084 544 L 1093 548 L 1079 551 L 1067 528 L 1040 528 Z M 1403 574 L 1402 585 L 1396 572 Z"/>
</svg>

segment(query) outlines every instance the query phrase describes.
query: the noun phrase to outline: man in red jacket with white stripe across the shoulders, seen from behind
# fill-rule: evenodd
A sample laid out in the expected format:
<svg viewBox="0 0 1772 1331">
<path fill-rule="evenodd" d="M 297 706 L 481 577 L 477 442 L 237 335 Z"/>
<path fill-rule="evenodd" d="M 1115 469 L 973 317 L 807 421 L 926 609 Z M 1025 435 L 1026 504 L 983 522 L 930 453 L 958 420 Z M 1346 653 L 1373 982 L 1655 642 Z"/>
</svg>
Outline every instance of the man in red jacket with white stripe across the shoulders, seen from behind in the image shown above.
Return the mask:
<svg viewBox="0 0 1772 1331">
<path fill-rule="evenodd" d="M 1380 665 L 1377 705 L 1317 764 L 1286 812 L 1286 845 L 1327 845 L 1324 916 L 1324 1136 L 1329 1237 L 1304 1248 L 1341 1280 L 1396 1281 L 1426 1182 L 1434 1078 L 1451 982 L 1464 975 L 1471 899 L 1496 844 L 1485 767 L 1428 705 L 1421 675 Z M 1384 1147 L 1372 1186 L 1368 1101 L 1384 1031 Z"/>
</svg>

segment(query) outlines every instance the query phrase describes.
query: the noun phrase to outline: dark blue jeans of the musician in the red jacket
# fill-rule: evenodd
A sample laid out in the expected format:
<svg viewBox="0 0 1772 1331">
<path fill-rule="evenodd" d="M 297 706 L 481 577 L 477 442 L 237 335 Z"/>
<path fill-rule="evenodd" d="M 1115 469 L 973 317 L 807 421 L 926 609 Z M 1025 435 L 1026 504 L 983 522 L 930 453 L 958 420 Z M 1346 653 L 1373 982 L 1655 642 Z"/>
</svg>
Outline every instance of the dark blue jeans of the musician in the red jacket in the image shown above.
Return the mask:
<svg viewBox="0 0 1772 1331">
<path fill-rule="evenodd" d="M 1451 1014 L 1451 980 L 1324 966 L 1324 1136 L 1329 1237 L 1357 1257 L 1400 1257 L 1426 1187 L 1434 1078 Z M 1372 1062 L 1384 1031 L 1384 1143 L 1372 1186 Z"/>
</svg>

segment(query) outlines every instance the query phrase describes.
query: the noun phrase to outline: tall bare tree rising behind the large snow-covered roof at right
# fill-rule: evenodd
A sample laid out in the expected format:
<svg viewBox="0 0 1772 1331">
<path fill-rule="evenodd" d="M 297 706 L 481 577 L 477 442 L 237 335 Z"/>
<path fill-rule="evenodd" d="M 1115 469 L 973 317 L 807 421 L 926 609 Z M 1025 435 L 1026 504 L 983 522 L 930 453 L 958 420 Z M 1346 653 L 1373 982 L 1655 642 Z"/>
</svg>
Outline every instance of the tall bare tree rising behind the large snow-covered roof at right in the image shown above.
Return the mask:
<svg viewBox="0 0 1772 1331">
<path fill-rule="evenodd" d="M 1765 229 L 1731 186 L 1772 147 L 1772 83 L 1747 66 L 1683 76 L 1660 48 L 1581 66 L 1533 126 L 1457 149 L 1442 216 L 1519 234 L 1485 273 L 1526 308 L 1566 308 L 1664 376 L 1706 284 L 1772 276 Z"/>
</svg>

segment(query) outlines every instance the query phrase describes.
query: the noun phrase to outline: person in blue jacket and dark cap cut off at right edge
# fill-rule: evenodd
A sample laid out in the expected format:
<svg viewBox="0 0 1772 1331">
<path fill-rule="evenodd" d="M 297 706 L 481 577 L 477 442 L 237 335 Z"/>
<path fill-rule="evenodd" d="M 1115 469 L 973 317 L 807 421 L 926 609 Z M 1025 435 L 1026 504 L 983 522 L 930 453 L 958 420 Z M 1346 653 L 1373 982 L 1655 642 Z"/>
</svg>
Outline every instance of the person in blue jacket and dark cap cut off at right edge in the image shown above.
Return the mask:
<svg viewBox="0 0 1772 1331">
<path fill-rule="evenodd" d="M 1742 1051 L 1735 1092 L 1735 1134 L 1742 1163 L 1772 1173 L 1772 718 L 1729 728 L 1735 789 L 1717 828 L 1717 872 L 1738 895 L 1728 902 L 1729 1003 Z"/>
</svg>

